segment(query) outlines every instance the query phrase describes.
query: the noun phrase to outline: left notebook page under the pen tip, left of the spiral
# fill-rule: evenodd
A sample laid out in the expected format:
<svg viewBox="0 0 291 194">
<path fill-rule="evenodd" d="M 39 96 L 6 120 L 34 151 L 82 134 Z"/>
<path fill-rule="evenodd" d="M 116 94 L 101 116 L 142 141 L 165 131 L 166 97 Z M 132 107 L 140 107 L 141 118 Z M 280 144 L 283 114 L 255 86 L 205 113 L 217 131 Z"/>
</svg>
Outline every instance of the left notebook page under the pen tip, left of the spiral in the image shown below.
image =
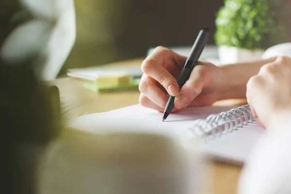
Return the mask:
<svg viewBox="0 0 291 194">
<path fill-rule="evenodd" d="M 70 120 L 68 126 L 94 133 L 138 131 L 177 137 L 192 127 L 196 119 L 207 118 L 212 113 L 221 113 L 229 109 L 231 107 L 191 107 L 179 113 L 171 113 L 167 120 L 162 122 L 163 113 L 141 105 L 132 105 L 105 113 L 76 117 Z"/>
</svg>

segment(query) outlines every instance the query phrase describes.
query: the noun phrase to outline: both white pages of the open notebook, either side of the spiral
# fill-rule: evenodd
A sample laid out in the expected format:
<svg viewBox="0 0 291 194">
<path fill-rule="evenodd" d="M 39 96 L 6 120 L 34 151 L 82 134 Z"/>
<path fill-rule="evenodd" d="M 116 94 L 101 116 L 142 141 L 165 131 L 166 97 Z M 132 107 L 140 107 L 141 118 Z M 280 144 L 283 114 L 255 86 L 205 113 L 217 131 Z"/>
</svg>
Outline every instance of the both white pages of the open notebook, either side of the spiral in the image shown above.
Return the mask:
<svg viewBox="0 0 291 194">
<path fill-rule="evenodd" d="M 181 137 L 193 127 L 194 121 L 207 118 L 210 114 L 226 112 L 236 107 L 189 107 L 179 113 L 171 113 L 165 122 L 162 114 L 141 105 L 105 112 L 94 113 L 71 119 L 68 126 L 94 133 L 110 131 L 134 131 Z M 258 138 L 264 133 L 257 123 L 248 124 L 221 135 L 214 135 L 203 141 L 207 155 L 222 161 L 242 163 Z"/>
</svg>

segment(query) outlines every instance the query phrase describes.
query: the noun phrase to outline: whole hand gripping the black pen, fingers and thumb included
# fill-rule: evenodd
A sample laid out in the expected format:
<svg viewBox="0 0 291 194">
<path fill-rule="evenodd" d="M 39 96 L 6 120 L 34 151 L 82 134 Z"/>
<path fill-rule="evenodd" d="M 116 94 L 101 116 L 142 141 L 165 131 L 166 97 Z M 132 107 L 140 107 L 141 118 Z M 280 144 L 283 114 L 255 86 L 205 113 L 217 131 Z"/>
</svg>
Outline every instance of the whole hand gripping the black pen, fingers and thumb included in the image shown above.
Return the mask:
<svg viewBox="0 0 291 194">
<path fill-rule="evenodd" d="M 219 67 L 198 62 L 190 79 L 179 90 L 178 76 L 185 64 L 186 57 L 170 49 L 156 48 L 142 64 L 142 76 L 139 90 L 140 104 L 163 112 L 169 95 L 175 96 L 177 112 L 187 106 L 211 105 L 218 99 L 222 71 Z"/>
</svg>

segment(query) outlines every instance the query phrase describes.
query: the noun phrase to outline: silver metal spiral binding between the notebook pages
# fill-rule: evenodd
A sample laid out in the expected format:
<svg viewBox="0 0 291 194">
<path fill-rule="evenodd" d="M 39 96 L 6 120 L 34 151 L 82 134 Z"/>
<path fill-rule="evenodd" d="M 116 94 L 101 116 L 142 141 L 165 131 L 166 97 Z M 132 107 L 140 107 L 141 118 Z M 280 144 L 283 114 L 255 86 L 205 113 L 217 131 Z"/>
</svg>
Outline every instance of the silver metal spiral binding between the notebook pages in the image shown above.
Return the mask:
<svg viewBox="0 0 291 194">
<path fill-rule="evenodd" d="M 242 128 L 254 121 L 249 105 L 219 114 L 211 114 L 206 119 L 197 119 L 190 130 L 196 135 L 222 135 Z"/>
</svg>

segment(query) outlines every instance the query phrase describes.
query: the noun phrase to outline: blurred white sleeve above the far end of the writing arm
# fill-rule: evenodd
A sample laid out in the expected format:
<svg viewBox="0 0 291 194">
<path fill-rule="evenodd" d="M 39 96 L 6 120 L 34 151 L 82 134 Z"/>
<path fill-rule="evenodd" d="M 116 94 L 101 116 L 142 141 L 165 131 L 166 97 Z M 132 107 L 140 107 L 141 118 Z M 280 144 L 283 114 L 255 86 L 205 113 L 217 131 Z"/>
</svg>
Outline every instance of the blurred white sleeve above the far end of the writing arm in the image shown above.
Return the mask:
<svg viewBox="0 0 291 194">
<path fill-rule="evenodd" d="M 278 57 L 278 56 L 287 56 L 291 58 L 291 42 L 282 43 L 282 44 L 270 47 L 263 53 L 262 59 L 268 59 L 271 57 Z"/>
</svg>

